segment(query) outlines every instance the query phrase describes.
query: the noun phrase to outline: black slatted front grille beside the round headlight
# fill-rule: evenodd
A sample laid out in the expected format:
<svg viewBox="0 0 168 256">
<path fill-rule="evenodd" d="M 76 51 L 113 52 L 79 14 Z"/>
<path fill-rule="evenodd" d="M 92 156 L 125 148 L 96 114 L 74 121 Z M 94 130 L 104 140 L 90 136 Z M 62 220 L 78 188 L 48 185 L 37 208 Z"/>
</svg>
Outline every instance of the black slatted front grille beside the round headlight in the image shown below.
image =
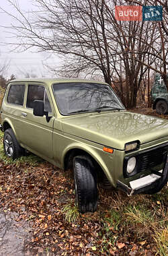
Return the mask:
<svg viewBox="0 0 168 256">
<path fill-rule="evenodd" d="M 139 154 L 138 171 L 142 172 L 147 168 L 153 168 L 155 166 L 159 166 L 160 164 L 162 164 L 165 152 L 167 152 L 167 149 L 163 147 Z"/>
</svg>

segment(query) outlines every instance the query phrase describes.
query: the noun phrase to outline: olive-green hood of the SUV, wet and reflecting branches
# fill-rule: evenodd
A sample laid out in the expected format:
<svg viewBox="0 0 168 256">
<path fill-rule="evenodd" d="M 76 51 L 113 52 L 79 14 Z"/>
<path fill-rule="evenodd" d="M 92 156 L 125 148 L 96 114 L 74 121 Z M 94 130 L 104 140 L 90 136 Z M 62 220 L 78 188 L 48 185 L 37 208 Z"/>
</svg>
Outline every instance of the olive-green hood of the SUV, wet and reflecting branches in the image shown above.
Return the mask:
<svg viewBox="0 0 168 256">
<path fill-rule="evenodd" d="M 127 111 L 87 113 L 62 119 L 65 133 L 124 150 L 125 143 L 140 144 L 168 136 L 168 121 Z"/>
</svg>

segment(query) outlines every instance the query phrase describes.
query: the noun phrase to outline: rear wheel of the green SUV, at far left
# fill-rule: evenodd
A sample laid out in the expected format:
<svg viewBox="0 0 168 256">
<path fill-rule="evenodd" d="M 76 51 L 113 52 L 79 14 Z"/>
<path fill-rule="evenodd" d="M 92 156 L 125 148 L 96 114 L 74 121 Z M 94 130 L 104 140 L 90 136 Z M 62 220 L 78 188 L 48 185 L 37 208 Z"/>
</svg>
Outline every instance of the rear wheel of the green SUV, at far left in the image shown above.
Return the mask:
<svg viewBox="0 0 168 256">
<path fill-rule="evenodd" d="M 7 129 L 3 136 L 3 149 L 5 155 L 14 160 L 19 158 L 24 152 L 24 149 L 19 146 L 19 143 L 12 131 L 12 129 Z"/>
</svg>

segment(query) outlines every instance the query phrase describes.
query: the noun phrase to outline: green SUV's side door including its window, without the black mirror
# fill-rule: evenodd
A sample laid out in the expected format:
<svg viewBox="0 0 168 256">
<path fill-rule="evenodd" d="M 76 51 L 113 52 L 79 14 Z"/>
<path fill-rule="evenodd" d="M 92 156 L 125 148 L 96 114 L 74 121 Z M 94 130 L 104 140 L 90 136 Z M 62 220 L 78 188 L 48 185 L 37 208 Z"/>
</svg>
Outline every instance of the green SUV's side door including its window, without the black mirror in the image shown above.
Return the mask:
<svg viewBox="0 0 168 256">
<path fill-rule="evenodd" d="M 28 84 L 26 106 L 22 112 L 22 135 L 20 141 L 25 148 L 42 156 L 52 159 L 52 130 L 54 118 L 46 121 L 46 116 L 33 115 L 34 100 L 44 100 L 44 111 L 50 116 L 53 114 L 53 106 L 50 103 L 47 88 L 40 84 Z"/>
</svg>

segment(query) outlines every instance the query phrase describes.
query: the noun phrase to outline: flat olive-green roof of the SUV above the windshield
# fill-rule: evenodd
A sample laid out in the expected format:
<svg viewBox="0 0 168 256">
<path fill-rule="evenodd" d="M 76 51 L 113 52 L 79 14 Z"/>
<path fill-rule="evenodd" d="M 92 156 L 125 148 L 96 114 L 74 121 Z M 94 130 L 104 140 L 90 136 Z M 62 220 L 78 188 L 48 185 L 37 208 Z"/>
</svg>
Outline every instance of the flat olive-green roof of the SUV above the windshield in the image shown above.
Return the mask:
<svg viewBox="0 0 168 256">
<path fill-rule="evenodd" d="M 9 83 L 15 82 L 40 82 L 45 84 L 63 83 L 63 82 L 87 82 L 96 84 L 107 84 L 106 82 L 89 80 L 89 79 L 77 79 L 77 78 L 23 78 L 11 80 Z"/>
</svg>

